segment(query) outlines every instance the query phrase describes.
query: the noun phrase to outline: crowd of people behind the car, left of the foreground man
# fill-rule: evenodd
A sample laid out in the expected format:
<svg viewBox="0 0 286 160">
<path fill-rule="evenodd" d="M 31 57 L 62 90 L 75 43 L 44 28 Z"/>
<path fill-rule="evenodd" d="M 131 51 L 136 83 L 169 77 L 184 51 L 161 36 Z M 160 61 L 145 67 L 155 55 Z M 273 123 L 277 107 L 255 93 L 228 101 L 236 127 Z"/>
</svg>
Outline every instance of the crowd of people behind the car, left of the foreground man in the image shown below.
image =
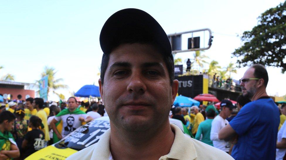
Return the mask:
<svg viewBox="0 0 286 160">
<path fill-rule="evenodd" d="M 100 102 L 77 102 L 74 97 L 67 103 L 31 97 L 5 100 L 0 106 L 0 159 L 25 159 L 82 124 L 106 115 Z M 61 131 L 56 128 L 59 121 L 63 124 Z"/>
</svg>

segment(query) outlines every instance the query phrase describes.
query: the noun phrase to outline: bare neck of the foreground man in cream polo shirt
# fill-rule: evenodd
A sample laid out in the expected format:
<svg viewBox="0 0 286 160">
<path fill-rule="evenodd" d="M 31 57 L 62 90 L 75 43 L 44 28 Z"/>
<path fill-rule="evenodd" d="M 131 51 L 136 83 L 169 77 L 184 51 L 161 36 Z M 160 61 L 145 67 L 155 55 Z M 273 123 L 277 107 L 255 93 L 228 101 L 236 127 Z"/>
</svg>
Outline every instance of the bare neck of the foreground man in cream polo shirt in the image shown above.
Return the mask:
<svg viewBox="0 0 286 160">
<path fill-rule="evenodd" d="M 156 129 L 157 133 L 126 133 L 115 126 L 110 129 L 110 152 L 114 159 L 159 159 L 170 152 L 175 138 L 169 121 Z"/>
</svg>

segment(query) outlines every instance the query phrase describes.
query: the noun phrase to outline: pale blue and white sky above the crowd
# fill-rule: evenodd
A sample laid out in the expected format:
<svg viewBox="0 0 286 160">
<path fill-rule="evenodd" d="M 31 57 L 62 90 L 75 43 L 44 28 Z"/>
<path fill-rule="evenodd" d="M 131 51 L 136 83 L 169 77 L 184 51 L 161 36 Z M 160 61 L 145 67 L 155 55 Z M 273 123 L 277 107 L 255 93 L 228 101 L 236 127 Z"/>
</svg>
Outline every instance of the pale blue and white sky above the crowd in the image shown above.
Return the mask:
<svg viewBox="0 0 286 160">
<path fill-rule="evenodd" d="M 204 54 L 220 66 L 235 62 L 231 52 L 241 46 L 237 34 L 257 25 L 257 17 L 279 0 L 253 1 L 0 1 L 0 76 L 11 73 L 16 82 L 40 79 L 44 66 L 54 67 L 69 89 L 65 96 L 86 84 L 97 85 L 102 51 L 101 27 L 110 15 L 124 8 L 139 8 L 152 15 L 167 34 L 210 28 L 213 45 Z M 193 58 L 193 52 L 175 58 Z M 246 68 L 239 68 L 235 79 Z M 268 67 L 270 95 L 285 95 L 286 75 Z M 51 99 L 57 99 L 51 96 Z"/>
</svg>

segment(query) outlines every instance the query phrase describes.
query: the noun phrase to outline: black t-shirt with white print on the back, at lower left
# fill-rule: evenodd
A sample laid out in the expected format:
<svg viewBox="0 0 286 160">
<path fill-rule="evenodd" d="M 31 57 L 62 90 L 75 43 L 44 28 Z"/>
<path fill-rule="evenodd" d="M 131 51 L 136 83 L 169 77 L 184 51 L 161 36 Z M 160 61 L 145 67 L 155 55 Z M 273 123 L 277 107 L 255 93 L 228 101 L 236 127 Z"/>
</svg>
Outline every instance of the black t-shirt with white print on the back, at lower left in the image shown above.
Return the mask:
<svg viewBox="0 0 286 160">
<path fill-rule="evenodd" d="M 28 157 L 34 152 L 45 147 L 45 134 L 40 129 L 33 129 L 25 135 L 25 140 L 28 141 L 24 157 Z"/>
</svg>

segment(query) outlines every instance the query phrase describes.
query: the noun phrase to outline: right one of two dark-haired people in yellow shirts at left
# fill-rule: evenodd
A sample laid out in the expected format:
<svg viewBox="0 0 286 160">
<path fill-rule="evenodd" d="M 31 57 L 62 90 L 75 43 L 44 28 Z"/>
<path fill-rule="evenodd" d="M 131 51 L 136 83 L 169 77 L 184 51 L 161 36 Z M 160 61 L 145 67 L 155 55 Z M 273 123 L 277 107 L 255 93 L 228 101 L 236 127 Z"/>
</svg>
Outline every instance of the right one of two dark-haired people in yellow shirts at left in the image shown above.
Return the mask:
<svg viewBox="0 0 286 160">
<path fill-rule="evenodd" d="M 50 140 L 50 134 L 49 134 L 49 127 L 47 123 L 47 114 L 43 110 L 44 100 L 42 98 L 35 98 L 33 101 L 33 107 L 37 109 L 36 116 L 39 117 L 42 120 L 42 124 L 44 125 L 44 128 L 41 129 L 42 132 L 45 133 L 45 141 Z"/>
</svg>

